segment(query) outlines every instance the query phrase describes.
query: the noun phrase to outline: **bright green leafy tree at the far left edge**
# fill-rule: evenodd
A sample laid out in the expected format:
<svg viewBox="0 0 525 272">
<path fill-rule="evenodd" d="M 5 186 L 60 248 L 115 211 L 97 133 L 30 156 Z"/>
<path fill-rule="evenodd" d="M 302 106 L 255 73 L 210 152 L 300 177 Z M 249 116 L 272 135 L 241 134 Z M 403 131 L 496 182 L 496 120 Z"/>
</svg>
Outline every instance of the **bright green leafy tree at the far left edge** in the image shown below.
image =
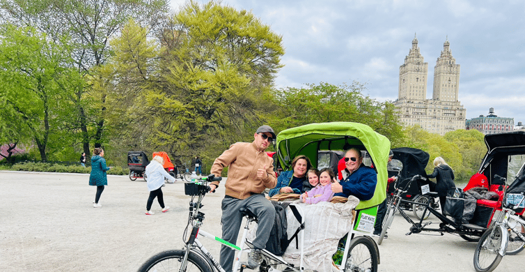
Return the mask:
<svg viewBox="0 0 525 272">
<path fill-rule="evenodd" d="M 50 43 L 44 33 L 32 27 L 1 26 L 0 82 L 4 100 L 3 115 L 13 123 L 17 139 L 31 135 L 40 157 L 47 160 L 47 144 L 56 116 L 61 115 L 59 101 L 68 96 L 70 68 L 68 48 Z M 63 39 L 63 45 L 67 40 Z M 68 77 L 68 78 L 66 78 Z M 13 139 L 11 139 L 13 140 Z"/>
</svg>

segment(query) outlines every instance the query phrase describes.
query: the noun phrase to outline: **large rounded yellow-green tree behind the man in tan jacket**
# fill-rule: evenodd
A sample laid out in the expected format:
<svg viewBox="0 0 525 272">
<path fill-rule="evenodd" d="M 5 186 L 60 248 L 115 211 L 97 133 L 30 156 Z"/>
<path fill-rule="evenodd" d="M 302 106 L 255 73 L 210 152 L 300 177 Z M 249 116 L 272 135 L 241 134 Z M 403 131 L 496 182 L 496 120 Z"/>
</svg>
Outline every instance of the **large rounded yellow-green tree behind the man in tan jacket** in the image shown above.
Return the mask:
<svg viewBox="0 0 525 272">
<path fill-rule="evenodd" d="M 128 24 L 111 44 L 116 91 L 130 98 L 120 109 L 133 111 L 136 133 L 146 133 L 152 146 L 203 156 L 258 123 L 260 98 L 269 96 L 281 68 L 281 36 L 253 14 L 213 1 L 190 1 L 164 22 L 157 33 L 162 51 L 147 35 Z"/>
</svg>

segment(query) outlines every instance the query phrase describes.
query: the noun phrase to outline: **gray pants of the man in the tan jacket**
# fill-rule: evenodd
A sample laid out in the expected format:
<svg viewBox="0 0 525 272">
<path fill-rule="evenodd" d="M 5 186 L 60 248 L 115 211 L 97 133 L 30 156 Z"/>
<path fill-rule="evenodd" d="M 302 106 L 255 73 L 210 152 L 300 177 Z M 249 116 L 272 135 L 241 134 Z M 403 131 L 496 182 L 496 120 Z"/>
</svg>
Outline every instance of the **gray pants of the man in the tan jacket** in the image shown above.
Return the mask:
<svg viewBox="0 0 525 272">
<path fill-rule="evenodd" d="M 239 236 L 242 223 L 240 208 L 247 208 L 257 215 L 258 227 L 256 238 L 253 239 L 253 246 L 264 249 L 275 221 L 274 205 L 266 199 L 264 194 L 251 195 L 246 199 L 232 197 L 222 199 L 222 239 L 234 245 L 237 243 L 237 236 Z M 224 271 L 232 271 L 234 259 L 235 250 L 222 245 L 219 263 Z"/>
</svg>

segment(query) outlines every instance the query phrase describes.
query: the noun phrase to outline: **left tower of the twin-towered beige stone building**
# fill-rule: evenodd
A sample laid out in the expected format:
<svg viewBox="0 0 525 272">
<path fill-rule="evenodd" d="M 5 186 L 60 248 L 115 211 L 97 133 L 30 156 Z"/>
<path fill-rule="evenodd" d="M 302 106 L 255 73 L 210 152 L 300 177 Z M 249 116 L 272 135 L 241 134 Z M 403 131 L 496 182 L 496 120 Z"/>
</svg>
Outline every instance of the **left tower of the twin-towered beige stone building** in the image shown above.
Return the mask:
<svg viewBox="0 0 525 272">
<path fill-rule="evenodd" d="M 419 52 L 418 39 L 414 35 L 412 48 L 405 63 L 399 66 L 399 93 L 400 99 L 425 100 L 427 93 L 428 62 L 424 62 Z"/>
</svg>

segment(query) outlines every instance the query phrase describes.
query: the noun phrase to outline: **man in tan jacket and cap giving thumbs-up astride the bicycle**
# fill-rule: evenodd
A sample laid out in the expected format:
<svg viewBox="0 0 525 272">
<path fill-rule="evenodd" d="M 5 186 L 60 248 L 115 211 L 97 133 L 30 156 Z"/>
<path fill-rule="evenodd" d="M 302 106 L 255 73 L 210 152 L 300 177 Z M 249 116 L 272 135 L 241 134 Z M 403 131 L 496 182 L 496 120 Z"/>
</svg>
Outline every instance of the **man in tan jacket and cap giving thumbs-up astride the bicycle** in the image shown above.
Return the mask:
<svg viewBox="0 0 525 272">
<path fill-rule="evenodd" d="M 263 191 L 274 188 L 277 183 L 274 160 L 265 152 L 276 137 L 274 130 L 269 126 L 260 126 L 253 137 L 251 143 L 232 144 L 215 159 L 210 170 L 215 176 L 221 176 L 222 169 L 228 167 L 226 196 L 221 204 L 222 239 L 233 244 L 237 242 L 242 222 L 240 208 L 247 208 L 258 216 L 256 238 L 253 239 L 255 249 L 250 252 L 246 263 L 249 269 L 255 269 L 262 262 L 260 250 L 266 247 L 275 220 L 274 206 Z M 219 181 L 212 182 L 212 192 L 218 186 Z M 219 262 L 226 272 L 232 271 L 234 258 L 235 250 L 223 245 Z"/>
</svg>

